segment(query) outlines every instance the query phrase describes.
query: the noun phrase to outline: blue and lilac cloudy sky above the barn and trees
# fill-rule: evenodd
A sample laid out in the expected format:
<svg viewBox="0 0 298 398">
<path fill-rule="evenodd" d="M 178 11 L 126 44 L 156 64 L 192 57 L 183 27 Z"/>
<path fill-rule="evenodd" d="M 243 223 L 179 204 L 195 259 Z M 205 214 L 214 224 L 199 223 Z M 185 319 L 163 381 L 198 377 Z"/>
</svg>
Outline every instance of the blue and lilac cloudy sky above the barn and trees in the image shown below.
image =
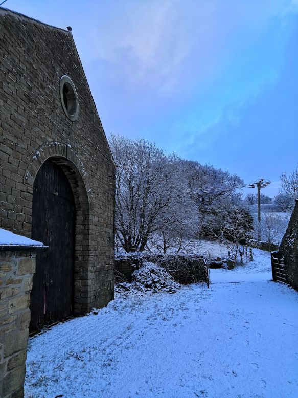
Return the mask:
<svg viewBox="0 0 298 398">
<path fill-rule="evenodd" d="M 3 6 L 72 26 L 107 135 L 147 138 L 247 183 L 297 166 L 298 0 Z"/>
</svg>

